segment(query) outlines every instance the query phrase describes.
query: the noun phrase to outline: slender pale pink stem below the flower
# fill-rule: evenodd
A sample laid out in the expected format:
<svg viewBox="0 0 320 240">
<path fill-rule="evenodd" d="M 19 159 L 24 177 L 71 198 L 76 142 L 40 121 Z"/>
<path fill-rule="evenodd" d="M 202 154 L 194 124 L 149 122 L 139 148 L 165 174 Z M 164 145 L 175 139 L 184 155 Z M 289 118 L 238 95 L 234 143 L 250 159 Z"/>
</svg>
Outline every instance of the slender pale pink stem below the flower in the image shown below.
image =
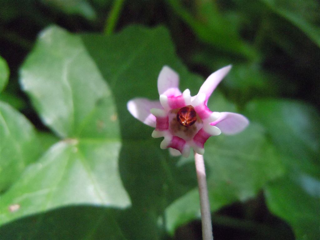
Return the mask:
<svg viewBox="0 0 320 240">
<path fill-rule="evenodd" d="M 202 238 L 203 240 L 213 240 L 211 212 L 208 197 L 207 180 L 205 177 L 203 155 L 197 154 L 195 152 L 195 162 L 200 196 Z"/>
</svg>

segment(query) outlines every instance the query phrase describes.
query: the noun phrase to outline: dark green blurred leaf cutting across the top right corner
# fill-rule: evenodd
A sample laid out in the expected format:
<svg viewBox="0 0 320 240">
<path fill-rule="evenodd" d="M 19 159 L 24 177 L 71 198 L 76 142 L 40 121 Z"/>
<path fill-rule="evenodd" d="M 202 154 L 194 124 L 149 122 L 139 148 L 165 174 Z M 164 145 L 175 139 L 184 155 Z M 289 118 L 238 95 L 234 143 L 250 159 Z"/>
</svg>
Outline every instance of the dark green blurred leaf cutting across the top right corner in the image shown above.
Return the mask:
<svg viewBox="0 0 320 240">
<path fill-rule="evenodd" d="M 261 0 L 273 12 L 300 28 L 320 47 L 320 5 L 314 0 Z"/>
</svg>

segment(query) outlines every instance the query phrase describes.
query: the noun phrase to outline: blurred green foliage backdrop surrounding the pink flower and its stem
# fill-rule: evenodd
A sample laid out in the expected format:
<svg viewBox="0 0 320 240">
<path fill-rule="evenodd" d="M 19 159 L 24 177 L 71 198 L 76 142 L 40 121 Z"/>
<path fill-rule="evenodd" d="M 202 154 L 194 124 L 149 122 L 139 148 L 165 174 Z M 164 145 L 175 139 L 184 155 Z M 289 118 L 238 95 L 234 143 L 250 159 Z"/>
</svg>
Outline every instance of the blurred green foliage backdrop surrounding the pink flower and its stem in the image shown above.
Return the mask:
<svg viewBox="0 0 320 240">
<path fill-rule="evenodd" d="M 230 63 L 209 107 L 251 124 L 205 144 L 215 239 L 320 238 L 318 1 L 0 5 L 1 239 L 198 239 L 192 157 L 126 103 Z"/>
</svg>

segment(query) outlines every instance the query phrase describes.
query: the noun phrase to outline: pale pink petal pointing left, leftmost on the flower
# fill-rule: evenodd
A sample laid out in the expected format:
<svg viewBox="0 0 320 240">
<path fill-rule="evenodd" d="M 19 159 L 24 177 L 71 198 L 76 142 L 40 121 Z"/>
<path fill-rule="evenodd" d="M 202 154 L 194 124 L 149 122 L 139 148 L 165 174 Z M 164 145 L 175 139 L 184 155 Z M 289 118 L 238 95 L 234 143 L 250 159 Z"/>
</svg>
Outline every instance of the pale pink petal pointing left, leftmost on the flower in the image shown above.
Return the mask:
<svg viewBox="0 0 320 240">
<path fill-rule="evenodd" d="M 151 127 L 156 127 L 156 117 L 150 113 L 151 108 L 162 108 L 159 101 L 150 101 L 146 98 L 135 98 L 127 103 L 129 112 Z"/>
</svg>

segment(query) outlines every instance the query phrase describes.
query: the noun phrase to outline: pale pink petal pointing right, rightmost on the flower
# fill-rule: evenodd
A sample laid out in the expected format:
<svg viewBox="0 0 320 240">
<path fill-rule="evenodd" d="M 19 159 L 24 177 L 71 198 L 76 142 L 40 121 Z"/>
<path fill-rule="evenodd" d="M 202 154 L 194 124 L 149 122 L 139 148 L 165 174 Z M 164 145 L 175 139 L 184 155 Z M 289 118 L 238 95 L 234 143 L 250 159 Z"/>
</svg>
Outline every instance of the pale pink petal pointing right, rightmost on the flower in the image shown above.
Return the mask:
<svg viewBox="0 0 320 240">
<path fill-rule="evenodd" d="M 249 124 L 249 120 L 237 113 L 221 112 L 221 116 L 211 123 L 225 134 L 236 134 L 243 131 Z"/>
</svg>

